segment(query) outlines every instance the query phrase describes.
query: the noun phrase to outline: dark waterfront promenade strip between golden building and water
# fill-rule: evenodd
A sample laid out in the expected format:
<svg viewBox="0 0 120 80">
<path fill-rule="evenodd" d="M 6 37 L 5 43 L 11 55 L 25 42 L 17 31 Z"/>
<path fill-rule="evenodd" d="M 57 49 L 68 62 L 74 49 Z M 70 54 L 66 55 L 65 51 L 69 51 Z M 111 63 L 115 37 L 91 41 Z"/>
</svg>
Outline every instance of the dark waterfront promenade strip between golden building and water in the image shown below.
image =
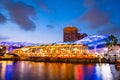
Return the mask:
<svg viewBox="0 0 120 80">
<path fill-rule="evenodd" d="M 88 55 L 82 56 L 31 56 L 31 57 L 18 57 L 16 55 L 4 55 L 0 57 L 0 60 L 12 60 L 12 61 L 36 61 L 36 62 L 67 62 L 67 63 L 115 63 L 116 60 L 106 59 L 104 57 L 94 57 Z"/>
</svg>

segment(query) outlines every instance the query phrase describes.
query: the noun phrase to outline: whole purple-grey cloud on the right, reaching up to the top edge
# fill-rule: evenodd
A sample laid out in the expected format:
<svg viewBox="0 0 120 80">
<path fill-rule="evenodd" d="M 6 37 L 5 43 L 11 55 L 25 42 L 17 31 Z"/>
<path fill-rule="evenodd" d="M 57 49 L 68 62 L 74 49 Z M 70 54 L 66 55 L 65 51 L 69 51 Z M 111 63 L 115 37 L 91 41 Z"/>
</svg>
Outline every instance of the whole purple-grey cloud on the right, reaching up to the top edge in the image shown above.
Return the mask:
<svg viewBox="0 0 120 80">
<path fill-rule="evenodd" d="M 83 5 L 86 7 L 86 12 L 77 19 L 80 23 L 86 23 L 90 29 L 103 27 L 110 22 L 111 13 L 101 7 L 105 6 L 105 0 L 85 0 Z"/>
</svg>

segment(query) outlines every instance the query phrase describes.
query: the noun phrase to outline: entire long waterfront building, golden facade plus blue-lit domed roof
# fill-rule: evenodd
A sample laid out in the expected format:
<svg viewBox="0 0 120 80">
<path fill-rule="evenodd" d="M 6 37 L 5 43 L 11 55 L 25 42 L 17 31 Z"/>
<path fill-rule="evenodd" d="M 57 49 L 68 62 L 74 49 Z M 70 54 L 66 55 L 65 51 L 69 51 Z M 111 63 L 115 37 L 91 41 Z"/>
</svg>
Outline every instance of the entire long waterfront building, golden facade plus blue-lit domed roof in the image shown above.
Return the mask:
<svg viewBox="0 0 120 80">
<path fill-rule="evenodd" d="M 58 42 L 37 46 L 25 46 L 12 50 L 11 53 L 20 57 L 60 57 L 60 58 L 81 58 L 85 56 L 91 58 L 93 53 L 105 53 L 105 35 L 87 36 L 75 42 Z M 83 55 L 85 54 L 85 55 Z"/>
</svg>

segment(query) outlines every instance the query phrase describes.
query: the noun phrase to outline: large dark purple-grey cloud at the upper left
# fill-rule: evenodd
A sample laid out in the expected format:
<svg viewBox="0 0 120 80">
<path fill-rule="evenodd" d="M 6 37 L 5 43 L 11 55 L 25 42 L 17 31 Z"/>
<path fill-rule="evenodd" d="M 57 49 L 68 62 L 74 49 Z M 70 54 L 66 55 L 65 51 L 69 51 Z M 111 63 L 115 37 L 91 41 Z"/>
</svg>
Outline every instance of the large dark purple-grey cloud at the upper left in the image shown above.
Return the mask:
<svg viewBox="0 0 120 80">
<path fill-rule="evenodd" d="M 35 30 L 36 26 L 32 17 L 36 17 L 35 9 L 23 2 L 1 0 L 1 4 L 8 11 L 11 20 L 26 31 Z"/>
</svg>

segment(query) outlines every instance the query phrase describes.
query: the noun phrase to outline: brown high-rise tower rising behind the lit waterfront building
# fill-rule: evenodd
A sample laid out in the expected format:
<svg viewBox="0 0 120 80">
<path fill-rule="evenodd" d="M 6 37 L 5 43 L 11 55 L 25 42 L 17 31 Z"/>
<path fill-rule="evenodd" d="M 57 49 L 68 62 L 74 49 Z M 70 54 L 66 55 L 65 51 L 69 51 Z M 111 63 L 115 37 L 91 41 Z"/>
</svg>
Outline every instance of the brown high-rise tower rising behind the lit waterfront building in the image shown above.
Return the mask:
<svg viewBox="0 0 120 80">
<path fill-rule="evenodd" d="M 87 36 L 86 33 L 78 33 L 78 29 L 73 26 L 67 26 L 63 30 L 64 42 L 74 42 Z"/>
</svg>

